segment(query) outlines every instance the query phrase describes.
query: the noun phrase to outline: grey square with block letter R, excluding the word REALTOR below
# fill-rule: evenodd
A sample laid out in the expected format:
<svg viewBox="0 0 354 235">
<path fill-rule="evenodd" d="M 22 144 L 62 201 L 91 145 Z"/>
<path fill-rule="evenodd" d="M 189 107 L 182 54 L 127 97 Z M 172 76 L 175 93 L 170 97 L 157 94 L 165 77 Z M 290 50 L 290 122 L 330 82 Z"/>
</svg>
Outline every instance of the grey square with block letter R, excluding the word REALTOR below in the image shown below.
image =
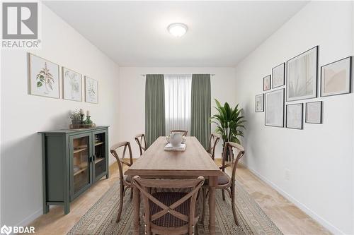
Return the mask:
<svg viewBox="0 0 354 235">
<path fill-rule="evenodd" d="M 38 39 L 38 3 L 3 2 L 2 22 L 4 40 Z"/>
</svg>

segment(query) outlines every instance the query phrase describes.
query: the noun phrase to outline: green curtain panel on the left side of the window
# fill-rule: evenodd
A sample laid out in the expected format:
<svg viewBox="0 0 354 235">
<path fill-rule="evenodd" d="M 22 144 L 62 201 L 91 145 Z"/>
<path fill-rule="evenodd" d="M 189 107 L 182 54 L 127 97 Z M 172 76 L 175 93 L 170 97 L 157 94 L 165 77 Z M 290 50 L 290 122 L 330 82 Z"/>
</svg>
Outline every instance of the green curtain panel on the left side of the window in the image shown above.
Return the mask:
<svg viewBox="0 0 354 235">
<path fill-rule="evenodd" d="M 165 135 L 165 85 L 163 74 L 147 74 L 145 83 L 145 135 L 150 146 Z"/>
</svg>

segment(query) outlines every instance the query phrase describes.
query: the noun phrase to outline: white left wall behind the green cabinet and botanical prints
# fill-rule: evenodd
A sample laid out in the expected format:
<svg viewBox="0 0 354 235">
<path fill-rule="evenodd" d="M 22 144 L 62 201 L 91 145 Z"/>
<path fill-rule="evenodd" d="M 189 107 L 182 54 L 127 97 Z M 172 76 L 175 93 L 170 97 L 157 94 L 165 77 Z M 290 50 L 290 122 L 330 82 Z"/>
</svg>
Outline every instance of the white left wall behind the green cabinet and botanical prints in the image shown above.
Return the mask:
<svg viewBox="0 0 354 235">
<path fill-rule="evenodd" d="M 69 110 L 83 108 L 110 125 L 110 143 L 118 141 L 118 66 L 45 5 L 42 49 L 32 53 L 97 79 L 99 104 L 28 95 L 26 52 L 1 51 L 1 224 L 8 226 L 42 214 L 38 131 L 67 128 Z"/>
</svg>

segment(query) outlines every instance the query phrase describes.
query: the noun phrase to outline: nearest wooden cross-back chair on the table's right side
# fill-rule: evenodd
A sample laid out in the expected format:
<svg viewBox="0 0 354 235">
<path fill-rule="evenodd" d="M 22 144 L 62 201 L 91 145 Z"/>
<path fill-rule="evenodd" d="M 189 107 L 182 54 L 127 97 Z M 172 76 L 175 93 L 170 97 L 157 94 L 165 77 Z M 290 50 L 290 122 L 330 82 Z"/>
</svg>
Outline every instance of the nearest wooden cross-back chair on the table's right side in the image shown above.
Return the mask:
<svg viewBox="0 0 354 235">
<path fill-rule="evenodd" d="M 226 162 L 227 158 L 227 152 L 230 153 L 231 155 L 231 161 Z M 236 157 L 234 157 L 236 156 Z M 222 155 L 222 166 L 220 169 L 223 172 L 222 176 L 219 176 L 218 180 L 218 185 L 215 187 L 216 189 L 221 189 L 222 190 L 222 200 L 225 200 L 225 195 L 224 191 L 227 191 L 229 193 L 229 196 L 231 198 L 232 202 L 232 213 L 234 214 L 234 220 L 236 225 L 239 225 L 239 222 L 237 221 L 236 217 L 236 208 L 235 208 L 235 178 L 236 178 L 236 167 L 237 163 L 239 162 L 239 159 L 244 156 L 244 147 L 241 145 L 234 143 L 234 142 L 227 142 L 224 145 L 224 151 Z M 232 176 L 230 176 L 225 173 L 225 169 L 227 167 L 232 166 Z M 207 190 L 209 189 L 209 185 L 207 181 L 205 181 L 205 185 L 202 187 L 202 195 L 203 195 L 203 203 L 202 203 L 202 222 L 204 222 L 204 216 L 205 216 L 205 200 L 207 200 Z"/>
</svg>

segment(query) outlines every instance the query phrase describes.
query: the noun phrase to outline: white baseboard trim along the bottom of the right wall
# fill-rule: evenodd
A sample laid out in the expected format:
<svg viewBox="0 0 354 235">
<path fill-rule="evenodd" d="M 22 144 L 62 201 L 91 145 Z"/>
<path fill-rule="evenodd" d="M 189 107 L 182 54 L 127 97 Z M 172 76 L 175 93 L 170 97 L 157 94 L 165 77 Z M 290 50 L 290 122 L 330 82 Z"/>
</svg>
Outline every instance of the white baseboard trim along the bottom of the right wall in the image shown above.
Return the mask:
<svg viewBox="0 0 354 235">
<path fill-rule="evenodd" d="M 265 183 L 268 183 L 268 185 L 272 188 L 275 189 L 275 191 L 278 191 L 278 193 L 280 193 L 283 197 L 287 198 L 287 200 L 290 200 L 290 202 L 294 203 L 297 207 L 299 207 L 299 209 L 301 209 L 303 212 L 305 212 L 307 215 L 309 215 L 309 217 L 312 217 L 312 219 L 316 220 L 316 222 L 318 222 L 319 224 L 321 224 L 323 227 L 325 227 L 326 229 L 328 229 L 329 231 L 331 231 L 331 233 L 333 234 L 345 234 L 343 231 L 341 231 L 340 229 L 338 229 L 337 227 L 335 227 L 333 224 L 331 224 L 330 222 L 326 221 L 326 219 L 322 218 L 321 216 L 317 215 L 316 212 L 312 211 L 311 209 L 309 209 L 309 207 L 307 207 L 306 205 L 300 203 L 298 200 L 296 200 L 295 198 L 293 198 L 289 193 L 283 191 L 280 187 L 278 187 L 275 183 L 273 183 L 272 181 L 268 180 L 267 178 L 265 178 L 264 176 L 262 176 L 261 174 L 259 174 L 257 171 L 255 171 L 254 169 L 251 169 L 249 166 L 247 166 L 246 164 L 244 164 L 243 162 L 239 162 L 239 164 L 241 164 L 243 167 L 245 167 L 246 169 L 249 169 L 249 171 L 251 171 L 253 174 L 255 174 L 259 179 L 261 179 L 262 181 L 264 181 Z"/>
</svg>

